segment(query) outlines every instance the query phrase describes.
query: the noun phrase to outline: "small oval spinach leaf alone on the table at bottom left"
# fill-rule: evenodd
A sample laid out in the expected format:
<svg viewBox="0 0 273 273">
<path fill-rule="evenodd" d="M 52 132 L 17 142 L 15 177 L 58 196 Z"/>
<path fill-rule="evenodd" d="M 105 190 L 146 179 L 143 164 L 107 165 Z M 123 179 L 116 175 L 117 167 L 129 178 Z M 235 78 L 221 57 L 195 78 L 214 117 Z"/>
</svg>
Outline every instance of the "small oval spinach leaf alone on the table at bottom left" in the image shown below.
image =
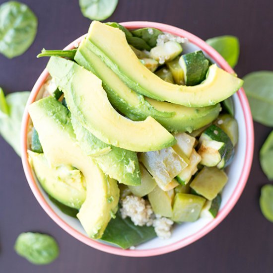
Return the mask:
<svg viewBox="0 0 273 273">
<path fill-rule="evenodd" d="M 41 233 L 21 233 L 16 239 L 14 249 L 18 255 L 36 265 L 50 264 L 59 256 L 55 239 Z"/>
</svg>

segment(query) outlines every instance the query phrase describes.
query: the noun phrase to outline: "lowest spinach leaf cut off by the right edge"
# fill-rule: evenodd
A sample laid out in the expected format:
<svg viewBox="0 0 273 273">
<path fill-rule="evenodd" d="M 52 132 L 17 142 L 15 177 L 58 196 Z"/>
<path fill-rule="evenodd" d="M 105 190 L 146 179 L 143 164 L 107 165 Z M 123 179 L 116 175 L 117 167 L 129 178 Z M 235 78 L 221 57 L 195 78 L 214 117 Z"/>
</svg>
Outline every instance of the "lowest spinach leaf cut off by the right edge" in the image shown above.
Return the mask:
<svg viewBox="0 0 273 273">
<path fill-rule="evenodd" d="M 265 185 L 261 189 L 260 208 L 264 216 L 273 222 L 273 185 Z"/>
</svg>

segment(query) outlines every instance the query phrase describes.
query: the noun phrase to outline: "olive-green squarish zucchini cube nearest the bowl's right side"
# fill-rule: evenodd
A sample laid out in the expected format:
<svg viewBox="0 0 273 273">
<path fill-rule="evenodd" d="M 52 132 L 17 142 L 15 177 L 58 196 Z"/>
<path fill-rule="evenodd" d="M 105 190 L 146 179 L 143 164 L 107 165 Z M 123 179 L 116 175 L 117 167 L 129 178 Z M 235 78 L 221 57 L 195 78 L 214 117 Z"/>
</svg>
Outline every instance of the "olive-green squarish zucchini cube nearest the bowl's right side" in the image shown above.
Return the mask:
<svg viewBox="0 0 273 273">
<path fill-rule="evenodd" d="M 228 177 L 217 167 L 204 167 L 194 178 L 190 187 L 207 200 L 213 200 L 222 191 Z"/>
</svg>

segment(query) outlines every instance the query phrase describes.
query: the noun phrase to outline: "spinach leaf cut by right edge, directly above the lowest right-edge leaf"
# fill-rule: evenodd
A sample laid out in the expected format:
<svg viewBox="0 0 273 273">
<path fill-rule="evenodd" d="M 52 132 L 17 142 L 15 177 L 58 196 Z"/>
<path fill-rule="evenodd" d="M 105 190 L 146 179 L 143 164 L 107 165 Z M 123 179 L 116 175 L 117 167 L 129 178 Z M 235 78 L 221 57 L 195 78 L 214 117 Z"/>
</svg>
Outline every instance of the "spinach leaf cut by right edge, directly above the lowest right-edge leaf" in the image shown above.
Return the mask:
<svg viewBox="0 0 273 273">
<path fill-rule="evenodd" d="M 260 150 L 260 163 L 268 179 L 273 180 L 273 131 Z"/>
</svg>

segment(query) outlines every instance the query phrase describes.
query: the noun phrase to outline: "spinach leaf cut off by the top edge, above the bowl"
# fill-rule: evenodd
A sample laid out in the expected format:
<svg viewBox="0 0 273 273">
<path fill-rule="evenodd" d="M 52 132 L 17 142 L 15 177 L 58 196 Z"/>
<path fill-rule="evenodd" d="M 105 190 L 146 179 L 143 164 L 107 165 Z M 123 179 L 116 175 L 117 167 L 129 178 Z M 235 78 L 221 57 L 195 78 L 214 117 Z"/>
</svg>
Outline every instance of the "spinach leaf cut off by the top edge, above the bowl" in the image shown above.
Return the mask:
<svg viewBox="0 0 273 273">
<path fill-rule="evenodd" d="M 119 0 L 79 0 L 83 16 L 102 21 L 110 17 L 115 11 Z"/>
</svg>

